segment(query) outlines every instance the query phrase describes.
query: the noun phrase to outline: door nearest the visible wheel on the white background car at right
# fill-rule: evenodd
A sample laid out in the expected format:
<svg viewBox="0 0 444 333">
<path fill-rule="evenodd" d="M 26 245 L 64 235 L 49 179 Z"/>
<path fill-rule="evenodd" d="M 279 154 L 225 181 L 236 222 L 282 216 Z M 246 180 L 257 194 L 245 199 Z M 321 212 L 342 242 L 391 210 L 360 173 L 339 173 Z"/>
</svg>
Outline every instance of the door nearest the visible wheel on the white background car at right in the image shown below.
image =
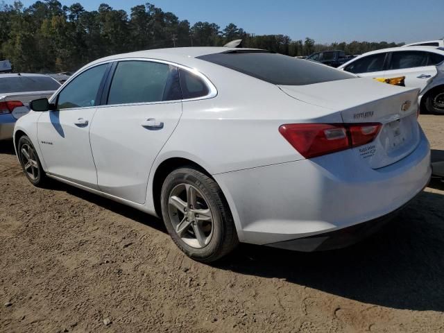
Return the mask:
<svg viewBox="0 0 444 333">
<path fill-rule="evenodd" d="M 406 87 L 422 90 L 438 74 L 436 58 L 439 57 L 426 51 L 395 51 L 391 53 L 384 77 L 405 76 Z"/>
</svg>

